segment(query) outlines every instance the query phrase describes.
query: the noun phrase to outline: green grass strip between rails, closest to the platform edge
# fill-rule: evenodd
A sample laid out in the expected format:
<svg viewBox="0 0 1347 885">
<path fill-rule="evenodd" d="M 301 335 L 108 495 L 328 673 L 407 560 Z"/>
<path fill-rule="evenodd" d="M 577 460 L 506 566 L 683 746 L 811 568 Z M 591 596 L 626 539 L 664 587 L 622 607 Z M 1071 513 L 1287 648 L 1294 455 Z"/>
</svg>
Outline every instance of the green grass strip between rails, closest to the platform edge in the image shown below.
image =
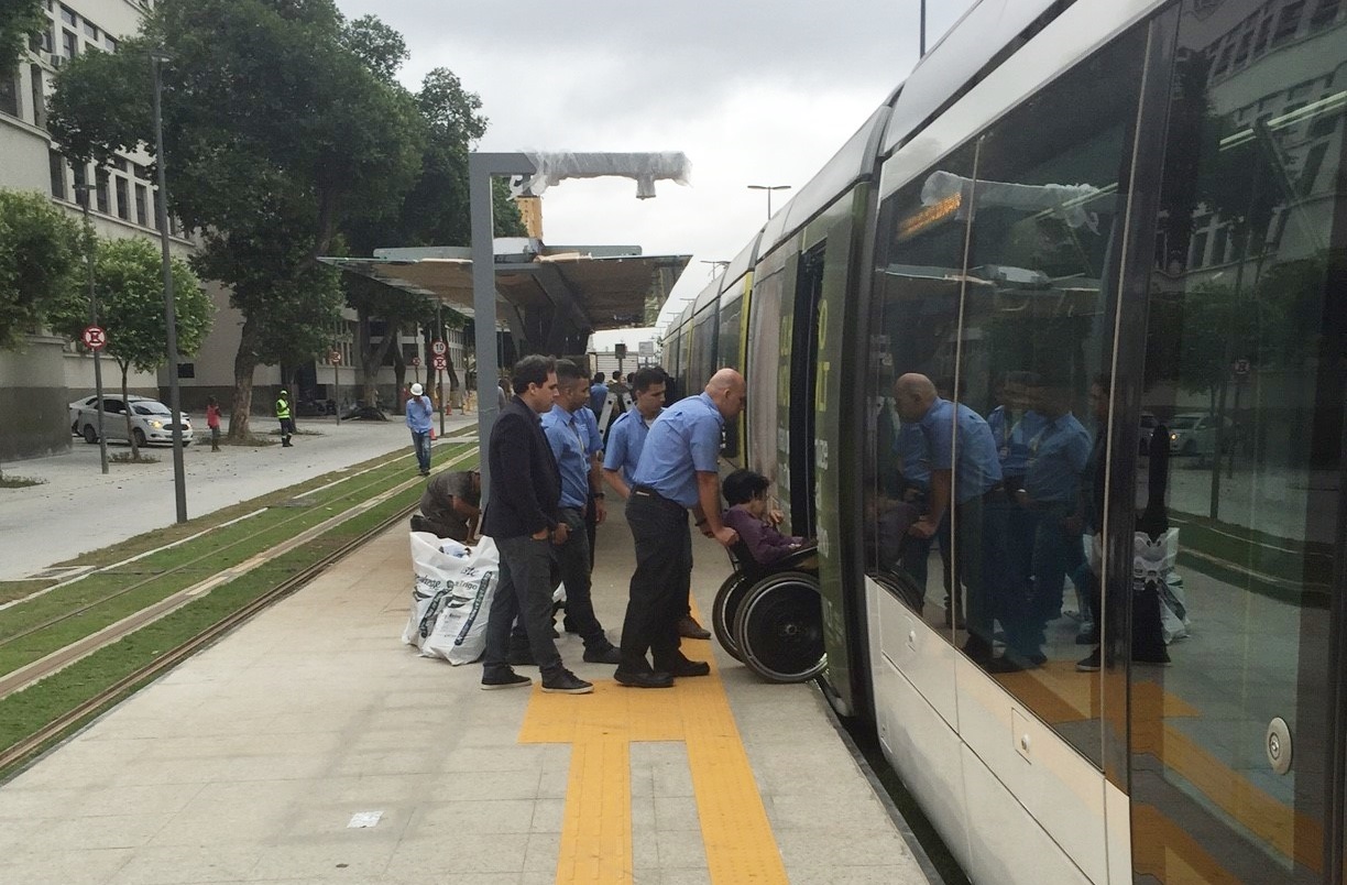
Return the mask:
<svg viewBox="0 0 1347 885">
<path fill-rule="evenodd" d="M 147 624 L 135 633 L 98 649 L 70 667 L 53 674 L 35 686 L 16 691 L 0 699 L 0 748 L 11 748 L 30 734 L 46 727 L 82 703 L 98 696 L 109 686 L 116 684 L 151 664 L 156 657 L 198 636 L 205 629 L 220 624 L 255 599 L 273 590 L 291 575 L 311 568 L 331 550 L 369 531 L 393 513 L 415 504 L 420 489 L 414 486 L 393 496 L 365 513 L 325 532 L 321 542 L 292 550 L 265 568 L 257 568 L 247 575 L 222 585 L 205 597 Z M 101 710 L 129 696 L 152 679 L 137 683 L 123 695 L 109 699 Z M 90 714 L 85 721 L 98 713 Z M 78 726 L 77 726 L 78 727 Z M 18 768 L 18 766 L 15 766 Z M 8 777 L 12 769 L 0 772 L 0 780 Z"/>
</svg>

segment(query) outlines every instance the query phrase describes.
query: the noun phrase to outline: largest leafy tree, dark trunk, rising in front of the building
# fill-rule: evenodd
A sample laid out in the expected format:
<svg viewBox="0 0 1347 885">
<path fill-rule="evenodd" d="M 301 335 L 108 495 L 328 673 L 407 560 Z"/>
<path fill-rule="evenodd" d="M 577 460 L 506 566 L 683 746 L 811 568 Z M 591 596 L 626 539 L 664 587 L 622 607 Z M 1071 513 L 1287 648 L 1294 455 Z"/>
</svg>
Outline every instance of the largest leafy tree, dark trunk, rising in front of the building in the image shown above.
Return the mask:
<svg viewBox="0 0 1347 885">
<path fill-rule="evenodd" d="M 141 36 L 82 54 L 57 78 L 53 135 L 70 156 L 108 159 L 152 141 L 145 55 L 172 59 L 170 210 L 201 232 L 194 267 L 229 286 L 244 314 L 230 438 L 248 432 L 257 365 L 327 348 L 341 291 L 318 256 L 346 218 L 396 205 L 416 172 L 415 102 L 352 48 L 379 36 L 345 27 L 331 0 L 163 0 Z"/>
</svg>

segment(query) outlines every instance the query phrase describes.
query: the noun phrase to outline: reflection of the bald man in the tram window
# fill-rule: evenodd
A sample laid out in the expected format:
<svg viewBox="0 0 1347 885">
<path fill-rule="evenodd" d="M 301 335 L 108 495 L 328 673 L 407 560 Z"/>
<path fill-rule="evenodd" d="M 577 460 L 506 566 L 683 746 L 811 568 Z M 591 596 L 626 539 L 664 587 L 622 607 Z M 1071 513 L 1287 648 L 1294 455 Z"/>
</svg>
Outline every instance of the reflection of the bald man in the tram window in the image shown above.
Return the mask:
<svg viewBox="0 0 1347 885">
<path fill-rule="evenodd" d="M 968 640 L 963 651 L 975 663 L 994 668 L 993 582 L 1002 566 L 994 555 L 997 532 L 989 532 L 985 523 L 987 505 L 994 508 L 1005 501 L 995 439 L 981 415 L 962 403 L 942 399 L 924 374 L 912 372 L 898 377 L 893 384 L 893 401 L 904 424 L 915 424 L 925 438 L 931 469 L 927 512 L 908 531 L 929 539 L 946 513 L 954 511 L 958 554 L 954 579 L 967 589 Z"/>
</svg>

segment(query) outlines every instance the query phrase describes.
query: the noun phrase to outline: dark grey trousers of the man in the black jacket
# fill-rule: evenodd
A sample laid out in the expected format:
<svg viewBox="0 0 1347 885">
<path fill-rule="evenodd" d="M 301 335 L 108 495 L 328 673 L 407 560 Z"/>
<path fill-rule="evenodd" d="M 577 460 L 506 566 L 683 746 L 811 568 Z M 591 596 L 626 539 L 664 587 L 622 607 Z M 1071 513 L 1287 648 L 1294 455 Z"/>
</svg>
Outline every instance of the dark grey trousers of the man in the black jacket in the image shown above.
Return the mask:
<svg viewBox="0 0 1347 885">
<path fill-rule="evenodd" d="M 501 554 L 501 582 L 486 621 L 482 671 L 489 674 L 509 668 L 505 657 L 516 617 L 524 624 L 528 647 L 539 668 L 544 674 L 559 669 L 562 656 L 552 641 L 552 542 L 535 540 L 528 535 L 497 537 L 496 548 Z"/>
</svg>

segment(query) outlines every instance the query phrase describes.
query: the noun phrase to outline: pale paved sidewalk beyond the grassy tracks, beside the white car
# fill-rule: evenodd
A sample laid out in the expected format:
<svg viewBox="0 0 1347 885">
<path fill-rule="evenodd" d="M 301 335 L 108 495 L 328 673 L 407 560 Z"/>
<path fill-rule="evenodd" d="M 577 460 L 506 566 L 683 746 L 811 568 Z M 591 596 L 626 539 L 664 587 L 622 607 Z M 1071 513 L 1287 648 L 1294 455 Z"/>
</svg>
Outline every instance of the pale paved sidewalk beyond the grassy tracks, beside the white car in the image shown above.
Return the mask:
<svg viewBox="0 0 1347 885">
<path fill-rule="evenodd" d="M 267 435 L 275 424 L 265 418 L 255 419 L 253 430 Z M 447 416 L 445 430 L 475 424 L 475 414 L 454 414 Z M 288 450 L 280 447 L 277 438 L 275 446 L 221 446 L 221 451 L 213 453 L 209 431 L 205 438 L 198 435 L 183 450 L 187 517 L 379 455 L 412 450 L 400 415 L 389 415 L 387 422 L 341 424 L 334 418 L 304 418 L 299 431 Z M 129 451 L 121 443 L 108 446 L 109 458 Z M 100 471 L 98 446 L 74 438 L 66 454 L 7 463 L 5 476 L 43 482 L 0 489 L 0 581 L 26 578 L 51 563 L 172 525 L 176 519 L 172 449 L 156 446 L 143 451 L 159 462 L 109 462 L 108 476 Z"/>
</svg>

